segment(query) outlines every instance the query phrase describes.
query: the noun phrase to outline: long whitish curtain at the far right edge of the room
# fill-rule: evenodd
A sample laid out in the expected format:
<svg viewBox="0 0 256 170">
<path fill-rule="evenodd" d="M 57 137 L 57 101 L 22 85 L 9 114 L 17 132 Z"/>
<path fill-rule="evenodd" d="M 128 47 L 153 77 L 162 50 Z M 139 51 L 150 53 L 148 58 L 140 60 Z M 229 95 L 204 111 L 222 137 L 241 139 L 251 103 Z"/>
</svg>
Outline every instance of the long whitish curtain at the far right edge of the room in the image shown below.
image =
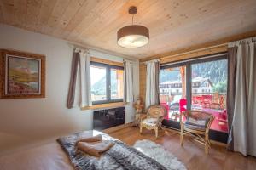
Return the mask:
<svg viewBox="0 0 256 170">
<path fill-rule="evenodd" d="M 234 116 L 231 125 L 234 150 L 256 156 L 256 37 L 230 42 L 237 47 Z"/>
</svg>

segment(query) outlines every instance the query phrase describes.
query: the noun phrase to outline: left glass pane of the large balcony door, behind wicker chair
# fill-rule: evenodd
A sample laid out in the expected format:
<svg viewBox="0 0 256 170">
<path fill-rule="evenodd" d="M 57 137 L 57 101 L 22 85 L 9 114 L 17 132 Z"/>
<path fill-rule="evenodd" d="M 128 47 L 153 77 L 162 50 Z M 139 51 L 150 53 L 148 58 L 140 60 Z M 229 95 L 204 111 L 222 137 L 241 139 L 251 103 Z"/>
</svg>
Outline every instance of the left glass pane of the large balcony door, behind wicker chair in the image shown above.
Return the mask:
<svg viewBox="0 0 256 170">
<path fill-rule="evenodd" d="M 186 67 L 160 70 L 160 104 L 166 106 L 166 119 L 179 121 L 180 112 L 186 110 Z"/>
</svg>

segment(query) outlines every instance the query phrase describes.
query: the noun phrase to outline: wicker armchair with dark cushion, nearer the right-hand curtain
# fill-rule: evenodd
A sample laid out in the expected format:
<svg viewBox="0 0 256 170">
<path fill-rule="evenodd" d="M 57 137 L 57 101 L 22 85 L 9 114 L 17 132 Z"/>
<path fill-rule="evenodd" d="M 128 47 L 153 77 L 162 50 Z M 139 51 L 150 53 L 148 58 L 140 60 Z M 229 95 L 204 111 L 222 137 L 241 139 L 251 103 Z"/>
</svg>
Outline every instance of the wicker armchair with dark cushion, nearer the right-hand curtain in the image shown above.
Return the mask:
<svg viewBox="0 0 256 170">
<path fill-rule="evenodd" d="M 204 111 L 183 111 L 180 116 L 180 144 L 183 145 L 183 135 L 192 133 L 197 137 L 195 139 L 197 142 L 205 145 L 205 152 L 208 154 L 211 146 L 209 129 L 213 120 L 214 116 Z"/>
</svg>

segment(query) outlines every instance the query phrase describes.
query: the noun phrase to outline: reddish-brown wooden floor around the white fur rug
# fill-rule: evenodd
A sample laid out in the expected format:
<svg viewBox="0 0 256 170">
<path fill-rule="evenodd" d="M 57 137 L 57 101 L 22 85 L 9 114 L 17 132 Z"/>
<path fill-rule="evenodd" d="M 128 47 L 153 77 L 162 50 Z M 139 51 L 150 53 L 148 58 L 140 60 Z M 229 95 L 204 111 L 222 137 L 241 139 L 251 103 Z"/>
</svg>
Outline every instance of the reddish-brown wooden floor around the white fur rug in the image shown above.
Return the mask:
<svg viewBox="0 0 256 170">
<path fill-rule="evenodd" d="M 137 140 L 150 139 L 172 152 L 180 161 L 183 161 L 188 169 L 256 169 L 256 158 L 253 156 L 242 156 L 239 153 L 227 151 L 223 146 L 217 145 L 212 145 L 209 155 L 205 155 L 202 144 L 198 144 L 191 137 L 185 137 L 183 147 L 181 147 L 179 144 L 179 134 L 169 131 L 161 131 L 159 139 L 155 139 L 154 133 L 146 129 L 143 130 L 141 135 L 138 127 L 125 127 L 108 134 L 129 145 L 133 145 Z"/>
</svg>

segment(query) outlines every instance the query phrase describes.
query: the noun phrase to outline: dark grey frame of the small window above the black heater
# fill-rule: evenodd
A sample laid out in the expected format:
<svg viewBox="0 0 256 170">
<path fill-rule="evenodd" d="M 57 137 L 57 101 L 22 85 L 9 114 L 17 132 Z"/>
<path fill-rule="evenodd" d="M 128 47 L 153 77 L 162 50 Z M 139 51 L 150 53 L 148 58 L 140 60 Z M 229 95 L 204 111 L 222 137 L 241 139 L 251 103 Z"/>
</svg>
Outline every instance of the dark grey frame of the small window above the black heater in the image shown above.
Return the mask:
<svg viewBox="0 0 256 170">
<path fill-rule="evenodd" d="M 108 64 L 104 64 L 104 63 L 98 63 L 95 61 L 90 61 L 90 66 L 99 66 L 99 67 L 104 67 L 106 69 L 106 98 L 107 99 L 92 101 L 92 105 L 123 102 L 124 98 L 123 99 L 111 99 L 111 69 L 118 69 L 118 70 L 124 71 L 124 67 L 117 66 L 117 65 L 108 65 Z"/>
</svg>

